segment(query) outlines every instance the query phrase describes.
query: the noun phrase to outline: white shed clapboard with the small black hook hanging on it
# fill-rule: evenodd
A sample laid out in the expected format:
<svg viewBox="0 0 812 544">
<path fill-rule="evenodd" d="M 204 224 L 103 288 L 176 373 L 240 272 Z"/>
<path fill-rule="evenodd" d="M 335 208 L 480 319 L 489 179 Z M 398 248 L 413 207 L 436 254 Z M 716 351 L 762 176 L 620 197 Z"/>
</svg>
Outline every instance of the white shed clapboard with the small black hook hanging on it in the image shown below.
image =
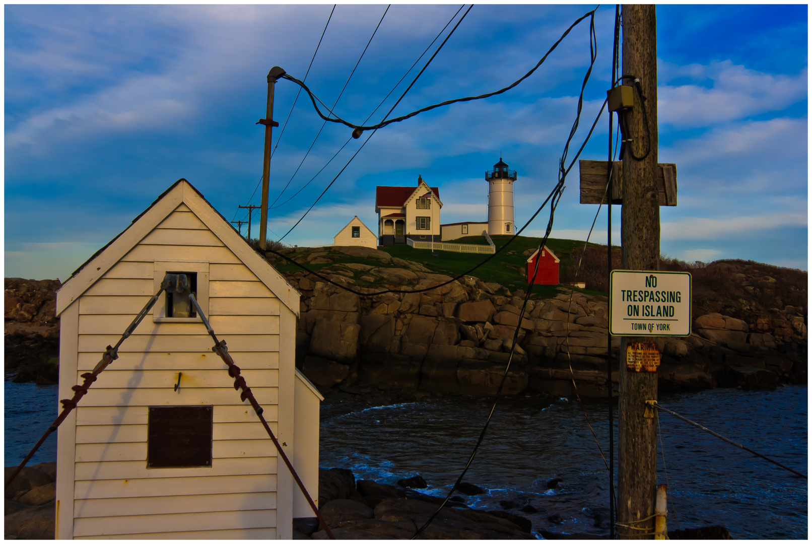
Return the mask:
<svg viewBox="0 0 812 544">
<path fill-rule="evenodd" d="M 239 365 L 238 365 L 239 366 Z M 222 365 L 218 369 L 196 369 L 180 373 L 180 389 L 194 387 L 229 387 L 233 386 L 234 378 L 228 375 L 228 367 Z M 263 386 L 279 386 L 279 370 L 277 369 L 240 369 L 240 374 L 250 387 L 252 383 Z M 137 376 L 137 378 L 136 378 Z M 76 382 L 80 382 L 79 373 Z M 94 389 L 123 389 L 129 387 L 129 382 L 138 380 L 139 387 L 153 389 L 166 388 L 175 392 L 178 383 L 178 373 L 175 370 L 130 370 L 106 369 L 93 383 Z"/>
</svg>

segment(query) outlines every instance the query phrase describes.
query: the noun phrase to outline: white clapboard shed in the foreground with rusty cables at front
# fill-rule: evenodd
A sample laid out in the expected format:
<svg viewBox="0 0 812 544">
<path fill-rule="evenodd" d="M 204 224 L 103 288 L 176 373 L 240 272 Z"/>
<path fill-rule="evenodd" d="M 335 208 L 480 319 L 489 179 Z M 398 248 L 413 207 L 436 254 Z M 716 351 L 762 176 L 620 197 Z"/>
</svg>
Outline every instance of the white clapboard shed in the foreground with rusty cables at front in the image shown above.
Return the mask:
<svg viewBox="0 0 812 544">
<path fill-rule="evenodd" d="M 321 395 L 294 366 L 300 293 L 185 179 L 58 291 L 59 399 L 167 272 L 194 278 L 317 501 Z M 292 538 L 292 518 L 313 513 L 200 318 L 167 316 L 171 304 L 159 298 L 58 430 L 57 538 Z"/>
</svg>

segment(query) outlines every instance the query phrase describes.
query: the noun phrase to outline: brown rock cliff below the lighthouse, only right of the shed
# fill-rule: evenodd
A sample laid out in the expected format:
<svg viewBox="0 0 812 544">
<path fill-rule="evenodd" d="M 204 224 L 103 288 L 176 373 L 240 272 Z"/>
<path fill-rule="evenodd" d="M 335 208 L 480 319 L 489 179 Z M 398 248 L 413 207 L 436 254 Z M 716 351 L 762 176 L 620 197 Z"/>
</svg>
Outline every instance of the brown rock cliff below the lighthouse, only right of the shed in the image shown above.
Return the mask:
<svg viewBox="0 0 812 544">
<path fill-rule="evenodd" d="M 368 248 L 288 251 L 297 262 L 322 265 L 320 274 L 356 291 L 372 293 L 382 287 L 404 291 L 361 297 L 313 274 L 287 270 L 288 280 L 302 292 L 296 364 L 325 390 L 378 386 L 493 394 L 519 325 L 505 394 L 568 395 L 574 378 L 580 395 L 607 395 L 608 308 L 603 296 L 559 287 L 556 296 L 530 300 L 519 323 L 524 291 L 510 292 L 498 283 L 466 276 L 412 293 L 408 291 L 451 278 Z M 380 264 L 345 262 L 348 255 Z M 770 283 L 762 276 L 748 281 L 746 274 L 741 275 L 744 287 L 750 281 Z M 805 292 L 806 286 L 802 289 Z M 718 304 L 711 299 L 705 293 L 702 304 Z M 690 337 L 656 340 L 663 353 L 662 391 L 806 382 L 806 310 L 786 306 L 758 311 L 757 302 L 745 299 L 737 304 L 747 308 L 742 311 L 749 322 L 707 313 L 696 318 Z M 614 338 L 615 361 L 619 347 L 620 339 Z M 617 369 L 615 363 L 612 382 L 617 382 Z"/>
</svg>

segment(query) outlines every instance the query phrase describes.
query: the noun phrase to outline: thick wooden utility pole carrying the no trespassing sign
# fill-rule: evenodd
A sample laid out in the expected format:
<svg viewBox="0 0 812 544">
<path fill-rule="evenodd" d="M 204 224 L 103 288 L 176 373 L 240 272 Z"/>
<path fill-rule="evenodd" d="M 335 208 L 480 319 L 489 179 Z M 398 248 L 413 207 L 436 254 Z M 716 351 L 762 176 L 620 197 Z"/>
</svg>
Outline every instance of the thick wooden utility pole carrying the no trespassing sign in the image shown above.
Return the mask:
<svg viewBox="0 0 812 544">
<path fill-rule="evenodd" d="M 646 98 L 634 93 L 623 157 L 623 208 L 620 237 L 625 270 L 659 270 L 657 167 L 657 24 L 653 5 L 623 6 L 623 71 L 640 80 Z M 633 85 L 634 80 L 623 84 Z M 643 108 L 646 109 L 644 123 Z M 645 124 L 648 126 L 646 127 Z M 646 136 L 648 134 L 648 136 Z M 641 161 L 638 158 L 648 155 Z M 654 419 L 644 417 L 646 400 L 657 399 L 657 373 L 628 372 L 626 346 L 651 338 L 624 336 L 620 343 L 618 515 L 620 538 L 652 538 L 657 493 L 657 443 Z M 645 534 L 649 533 L 649 534 Z"/>
</svg>

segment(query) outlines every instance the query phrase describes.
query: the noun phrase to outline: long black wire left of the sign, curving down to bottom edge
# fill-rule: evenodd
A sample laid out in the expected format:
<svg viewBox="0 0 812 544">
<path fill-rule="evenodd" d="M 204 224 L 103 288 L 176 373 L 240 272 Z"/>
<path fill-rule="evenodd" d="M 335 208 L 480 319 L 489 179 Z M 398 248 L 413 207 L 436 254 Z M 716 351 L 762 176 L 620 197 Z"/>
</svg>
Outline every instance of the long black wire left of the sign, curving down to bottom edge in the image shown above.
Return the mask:
<svg viewBox="0 0 812 544">
<path fill-rule="evenodd" d="M 596 53 L 597 53 L 597 37 L 595 36 L 595 28 L 594 28 L 594 11 L 592 11 L 591 13 L 592 13 L 592 16 L 590 18 L 590 67 L 587 69 L 585 78 L 583 80 L 583 83 L 581 84 L 581 94 L 580 94 L 579 101 L 578 101 L 576 119 L 575 119 L 574 123 L 572 123 L 573 128 L 569 133 L 569 136 L 567 138 L 566 143 L 564 144 L 563 156 L 566 156 L 566 150 L 569 148 L 569 144 L 572 141 L 572 138 L 575 136 L 576 128 L 577 128 L 578 123 L 579 123 L 579 121 L 581 119 L 581 110 L 582 110 L 581 106 L 582 106 L 582 103 L 583 103 L 583 96 L 584 96 L 586 84 L 589 81 L 589 76 L 590 76 L 590 74 L 592 72 L 592 67 L 594 66 L 594 63 L 595 63 L 595 58 L 596 58 Z M 541 242 L 538 245 L 539 256 L 542 253 L 542 249 L 546 245 L 547 239 L 550 237 L 550 233 L 551 233 L 552 227 L 553 227 L 553 219 L 555 217 L 555 209 L 557 208 L 557 206 L 559 204 L 559 201 L 561 200 L 561 197 L 563 196 L 564 187 L 565 187 L 564 186 L 564 181 L 566 180 L 567 174 L 572 169 L 572 166 L 577 161 L 577 158 L 581 155 L 581 151 L 584 149 L 584 147 L 586 145 L 586 142 L 590 139 L 590 136 L 592 136 L 592 132 L 594 130 L 594 127 L 598 124 L 598 119 L 601 118 L 601 115 L 603 114 L 603 108 L 605 106 L 606 106 L 606 101 L 603 102 L 603 106 L 601 106 L 601 110 L 598 112 L 598 116 L 595 118 L 595 121 L 592 124 L 592 128 L 590 129 L 590 132 L 586 136 L 584 144 L 581 145 L 581 148 L 578 150 L 575 158 L 572 159 L 572 163 L 570 164 L 569 168 L 564 167 L 564 160 L 563 159 L 561 161 L 559 161 L 559 176 L 558 176 L 559 179 L 558 179 L 558 183 L 555 184 L 555 188 L 553 189 L 553 192 L 551 193 L 551 196 L 548 197 L 548 200 L 551 201 L 551 204 L 550 204 L 550 219 L 547 222 L 547 227 L 546 227 L 546 231 L 544 233 L 544 237 L 542 238 Z M 541 209 L 539 209 L 539 211 L 541 211 Z M 537 214 L 538 214 L 538 212 L 537 212 Z M 535 217 L 535 216 L 533 216 L 533 217 Z M 525 225 L 525 227 L 526 227 L 526 225 Z M 523 227 L 523 230 L 524 230 L 524 227 Z M 514 236 L 514 239 L 515 239 L 515 236 Z M 516 329 L 513 332 L 513 339 L 512 339 L 512 343 L 511 343 L 510 355 L 508 356 L 508 363 L 507 363 L 507 365 L 505 365 L 505 369 L 504 369 L 504 372 L 502 374 L 502 379 L 499 381 L 499 386 L 496 389 L 496 394 L 495 394 L 495 397 L 494 397 L 494 403 L 490 407 L 490 412 L 488 413 L 488 417 L 487 417 L 487 419 L 485 421 L 485 425 L 482 426 L 482 431 L 480 432 L 479 437 L 477 438 L 477 443 L 474 445 L 473 451 L 471 451 L 471 455 L 469 456 L 468 462 L 465 464 L 462 472 L 460 473 L 460 476 L 457 477 L 456 482 L 454 483 L 454 485 L 451 486 L 451 490 L 446 495 L 446 498 L 443 500 L 443 503 L 441 503 L 438 506 L 437 511 L 434 512 L 434 514 L 429 518 L 429 520 L 427 520 L 425 522 L 425 524 L 420 529 L 417 529 L 417 532 L 414 533 L 414 535 L 412 535 L 412 540 L 414 538 L 417 538 L 417 536 L 420 533 L 422 533 L 431 524 L 431 522 L 434 520 L 434 518 L 438 516 L 439 512 L 446 505 L 446 503 L 448 503 L 449 499 L 451 499 L 451 495 L 454 493 L 454 490 L 456 490 L 456 487 L 460 485 L 460 482 L 463 480 L 463 478 L 465 476 L 465 473 L 468 472 L 468 469 L 470 468 L 471 464 L 473 463 L 474 457 L 477 455 L 477 450 L 479 449 L 480 444 L 482 444 L 482 440 L 485 438 L 485 434 L 486 434 L 486 431 L 488 429 L 488 425 L 490 425 L 490 421 L 493 418 L 494 412 L 496 410 L 496 405 L 499 403 L 499 395 L 501 395 L 502 389 L 504 387 L 504 383 L 505 383 L 506 379 L 508 378 L 508 373 L 510 371 L 510 366 L 511 366 L 511 363 L 513 361 L 513 354 L 516 352 L 516 344 L 518 343 L 520 326 L 521 326 L 522 320 L 525 317 L 525 310 L 527 309 L 527 303 L 530 300 L 530 294 L 533 291 L 533 285 L 535 284 L 536 274 L 538 274 L 538 262 L 539 261 L 541 261 L 540 258 L 538 258 L 536 260 L 536 266 L 535 266 L 535 269 L 533 270 L 533 281 L 529 282 L 528 287 L 527 287 L 527 292 L 525 293 L 525 300 L 522 302 L 522 305 L 521 305 L 521 309 L 520 309 L 520 312 L 519 312 L 519 321 L 518 321 L 518 323 L 516 323 Z"/>
</svg>

